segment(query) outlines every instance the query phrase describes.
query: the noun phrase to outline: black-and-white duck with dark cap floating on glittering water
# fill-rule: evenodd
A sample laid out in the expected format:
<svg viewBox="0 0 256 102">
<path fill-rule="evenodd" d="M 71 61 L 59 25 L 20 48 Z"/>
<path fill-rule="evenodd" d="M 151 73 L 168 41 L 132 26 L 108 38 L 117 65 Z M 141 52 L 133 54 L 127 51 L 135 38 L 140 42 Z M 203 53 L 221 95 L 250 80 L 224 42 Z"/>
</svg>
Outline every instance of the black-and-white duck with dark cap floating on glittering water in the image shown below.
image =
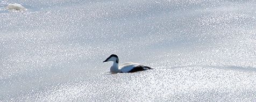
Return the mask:
<svg viewBox="0 0 256 102">
<path fill-rule="evenodd" d="M 103 63 L 108 61 L 113 61 L 113 65 L 110 67 L 110 72 L 112 74 L 117 74 L 118 72 L 127 73 L 127 72 L 137 72 L 137 71 L 152 69 L 140 63 L 134 63 L 134 62 L 126 62 L 119 65 L 118 56 L 115 54 L 111 54 L 105 61 L 103 61 Z"/>
</svg>

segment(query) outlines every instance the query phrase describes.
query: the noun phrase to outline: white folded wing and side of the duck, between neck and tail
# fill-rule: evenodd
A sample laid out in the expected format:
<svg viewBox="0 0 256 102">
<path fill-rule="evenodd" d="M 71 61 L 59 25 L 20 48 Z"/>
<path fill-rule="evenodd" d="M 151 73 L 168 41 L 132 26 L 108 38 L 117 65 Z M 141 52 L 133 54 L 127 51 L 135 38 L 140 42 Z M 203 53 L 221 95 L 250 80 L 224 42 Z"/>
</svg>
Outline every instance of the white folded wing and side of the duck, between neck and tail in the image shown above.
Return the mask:
<svg viewBox="0 0 256 102">
<path fill-rule="evenodd" d="M 124 63 L 124 64 L 120 65 L 119 69 L 121 70 L 121 72 L 129 72 L 130 70 L 137 67 L 138 65 L 140 65 L 140 64 L 128 62 L 128 63 Z"/>
</svg>

